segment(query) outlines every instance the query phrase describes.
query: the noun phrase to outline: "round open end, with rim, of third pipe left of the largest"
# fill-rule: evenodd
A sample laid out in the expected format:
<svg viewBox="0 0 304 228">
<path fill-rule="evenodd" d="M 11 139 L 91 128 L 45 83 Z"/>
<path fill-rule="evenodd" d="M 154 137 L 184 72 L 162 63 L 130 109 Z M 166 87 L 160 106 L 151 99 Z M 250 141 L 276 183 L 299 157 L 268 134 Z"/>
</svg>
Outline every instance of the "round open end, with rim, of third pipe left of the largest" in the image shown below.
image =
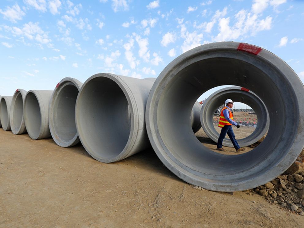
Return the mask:
<svg viewBox="0 0 304 228">
<path fill-rule="evenodd" d="M 26 95 L 25 95 L 25 101 L 24 101 L 24 109 L 23 109 L 23 116 L 24 116 L 24 122 L 25 122 L 25 127 L 26 127 L 26 130 L 30 136 L 30 138 L 36 140 L 36 139 L 39 139 L 40 135 L 42 135 L 42 123 L 43 123 L 43 120 L 42 120 L 42 116 L 44 116 L 44 109 L 41 108 L 43 107 L 43 105 L 41 104 L 41 98 L 38 99 L 38 97 L 40 97 L 40 94 L 36 91 L 36 90 L 29 90 Z M 32 105 L 35 105 L 36 107 L 36 110 L 34 111 L 34 113 L 31 113 L 32 115 L 30 115 L 30 113 L 27 113 L 27 112 L 30 112 L 31 110 L 28 110 L 29 107 L 28 107 L 28 104 L 29 104 L 29 99 L 32 98 L 32 99 L 35 99 L 35 104 L 32 104 Z M 38 107 L 37 107 L 38 105 Z M 39 110 L 39 112 L 38 112 Z M 28 115 L 29 114 L 29 115 Z M 37 114 L 39 114 L 39 122 L 35 122 L 32 118 L 34 117 L 38 117 Z M 29 116 L 29 117 L 28 117 Z M 33 126 L 33 124 L 35 124 L 36 126 Z M 37 127 L 37 125 L 39 125 L 39 127 Z"/>
</svg>

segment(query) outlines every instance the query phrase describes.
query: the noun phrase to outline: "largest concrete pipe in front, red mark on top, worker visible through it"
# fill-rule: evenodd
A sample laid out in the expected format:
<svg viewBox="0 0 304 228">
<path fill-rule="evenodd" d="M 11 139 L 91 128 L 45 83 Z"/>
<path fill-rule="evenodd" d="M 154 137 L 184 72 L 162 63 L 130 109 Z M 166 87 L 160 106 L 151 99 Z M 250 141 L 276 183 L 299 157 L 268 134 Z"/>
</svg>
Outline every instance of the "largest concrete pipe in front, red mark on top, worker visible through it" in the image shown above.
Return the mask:
<svg viewBox="0 0 304 228">
<path fill-rule="evenodd" d="M 185 122 L 197 98 L 219 85 L 253 91 L 268 110 L 268 134 L 247 153 L 211 151 Z M 184 181 L 240 191 L 273 180 L 298 157 L 304 146 L 303 101 L 301 80 L 276 55 L 250 44 L 211 43 L 185 52 L 161 72 L 147 101 L 147 132 L 164 165 Z"/>
</svg>

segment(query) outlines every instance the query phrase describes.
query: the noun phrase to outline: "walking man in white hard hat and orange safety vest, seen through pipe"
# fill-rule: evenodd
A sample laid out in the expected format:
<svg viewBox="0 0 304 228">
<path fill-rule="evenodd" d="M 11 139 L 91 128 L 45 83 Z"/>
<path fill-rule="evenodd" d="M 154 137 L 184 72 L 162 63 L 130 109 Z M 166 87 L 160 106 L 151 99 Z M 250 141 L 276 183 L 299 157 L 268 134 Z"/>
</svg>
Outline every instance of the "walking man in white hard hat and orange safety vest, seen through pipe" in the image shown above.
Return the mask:
<svg viewBox="0 0 304 228">
<path fill-rule="evenodd" d="M 218 127 L 221 127 L 221 133 L 218 137 L 218 143 L 217 143 L 217 148 L 216 150 L 221 150 L 221 151 L 225 151 L 224 148 L 222 148 L 222 143 L 223 140 L 225 139 L 226 134 L 229 136 L 235 150 L 237 152 L 241 152 L 246 150 L 246 148 L 241 148 L 238 143 L 237 140 L 235 139 L 235 135 L 234 132 L 232 130 L 232 125 L 237 126 L 237 128 L 240 128 L 240 125 L 237 124 L 237 122 L 235 122 L 233 120 L 233 114 L 232 114 L 232 107 L 233 107 L 233 101 L 231 99 L 227 99 L 225 101 L 226 106 L 222 109 L 220 118 L 219 118 L 219 122 L 218 122 Z"/>
</svg>

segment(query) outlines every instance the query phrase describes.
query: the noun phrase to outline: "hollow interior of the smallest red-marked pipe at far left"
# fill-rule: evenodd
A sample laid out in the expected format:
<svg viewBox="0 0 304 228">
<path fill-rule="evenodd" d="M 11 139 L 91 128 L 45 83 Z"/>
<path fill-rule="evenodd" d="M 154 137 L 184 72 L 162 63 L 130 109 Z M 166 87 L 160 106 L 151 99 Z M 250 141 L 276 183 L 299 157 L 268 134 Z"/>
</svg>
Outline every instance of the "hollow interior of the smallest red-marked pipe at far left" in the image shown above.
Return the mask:
<svg viewBox="0 0 304 228">
<path fill-rule="evenodd" d="M 22 94 L 18 93 L 15 101 L 13 101 L 13 119 L 10 123 L 12 131 L 18 131 L 18 129 L 21 126 L 21 122 L 23 120 L 23 99 L 22 99 Z"/>
</svg>

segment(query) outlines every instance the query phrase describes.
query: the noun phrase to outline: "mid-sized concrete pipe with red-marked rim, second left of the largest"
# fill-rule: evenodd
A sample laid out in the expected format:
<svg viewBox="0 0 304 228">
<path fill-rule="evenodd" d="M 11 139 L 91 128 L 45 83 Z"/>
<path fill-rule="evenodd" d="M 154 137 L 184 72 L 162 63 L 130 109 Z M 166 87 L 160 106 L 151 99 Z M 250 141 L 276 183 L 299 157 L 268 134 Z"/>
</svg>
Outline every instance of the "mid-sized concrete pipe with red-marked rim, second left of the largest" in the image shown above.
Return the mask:
<svg viewBox="0 0 304 228">
<path fill-rule="evenodd" d="M 76 99 L 82 83 L 75 78 L 63 78 L 54 89 L 49 107 L 51 135 L 62 147 L 79 143 L 75 123 Z"/>
</svg>

